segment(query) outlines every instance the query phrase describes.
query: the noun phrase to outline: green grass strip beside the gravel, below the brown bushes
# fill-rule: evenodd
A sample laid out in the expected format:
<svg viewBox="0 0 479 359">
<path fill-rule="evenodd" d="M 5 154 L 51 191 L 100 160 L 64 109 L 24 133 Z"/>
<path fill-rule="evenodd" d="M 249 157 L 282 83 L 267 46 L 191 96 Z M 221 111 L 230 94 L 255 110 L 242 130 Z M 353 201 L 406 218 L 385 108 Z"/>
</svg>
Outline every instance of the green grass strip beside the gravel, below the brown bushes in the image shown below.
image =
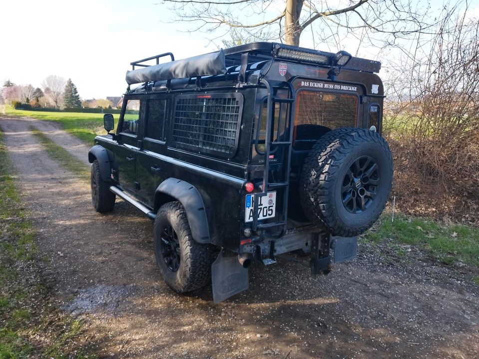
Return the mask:
<svg viewBox="0 0 479 359">
<path fill-rule="evenodd" d="M 385 212 L 364 239 L 373 243 L 391 239 L 427 249 L 444 264 L 462 262 L 479 267 L 479 228 L 467 225 L 447 225 L 400 213 L 392 222 L 391 213 Z"/>
</svg>

